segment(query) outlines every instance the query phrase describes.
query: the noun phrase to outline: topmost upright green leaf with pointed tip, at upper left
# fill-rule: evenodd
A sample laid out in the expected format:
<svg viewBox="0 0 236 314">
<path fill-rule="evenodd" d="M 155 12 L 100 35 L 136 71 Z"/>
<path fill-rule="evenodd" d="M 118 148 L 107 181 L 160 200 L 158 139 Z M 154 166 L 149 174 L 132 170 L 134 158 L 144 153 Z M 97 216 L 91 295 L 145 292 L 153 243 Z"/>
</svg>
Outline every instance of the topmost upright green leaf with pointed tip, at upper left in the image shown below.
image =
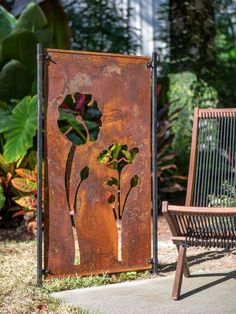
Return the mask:
<svg viewBox="0 0 236 314">
<path fill-rule="evenodd" d="M 47 19 L 36 3 L 29 3 L 20 15 L 15 29 L 25 29 L 32 33 L 42 30 L 47 26 Z"/>
</svg>

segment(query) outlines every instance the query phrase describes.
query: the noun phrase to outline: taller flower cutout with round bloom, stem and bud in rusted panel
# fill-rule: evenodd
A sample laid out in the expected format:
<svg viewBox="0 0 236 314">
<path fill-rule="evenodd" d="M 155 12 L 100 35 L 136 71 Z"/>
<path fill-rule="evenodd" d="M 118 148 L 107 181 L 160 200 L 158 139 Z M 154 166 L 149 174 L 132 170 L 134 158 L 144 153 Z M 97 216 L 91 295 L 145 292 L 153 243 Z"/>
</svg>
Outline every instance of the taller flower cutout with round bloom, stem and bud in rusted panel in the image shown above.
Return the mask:
<svg viewBox="0 0 236 314">
<path fill-rule="evenodd" d="M 97 140 L 102 125 L 102 113 L 92 95 L 78 92 L 66 95 L 58 110 L 58 127 L 61 133 L 67 138 L 67 141 L 71 143 L 65 165 L 65 191 L 71 227 L 73 227 L 75 226 L 74 215 L 79 212 L 80 207 L 78 204 L 79 190 L 82 183 L 88 179 L 90 174 L 90 169 L 87 165 L 80 170 L 80 179 L 71 200 L 71 173 L 76 147 Z M 74 264 L 80 264 L 78 236 L 75 232 L 72 233 L 75 247 Z"/>
</svg>

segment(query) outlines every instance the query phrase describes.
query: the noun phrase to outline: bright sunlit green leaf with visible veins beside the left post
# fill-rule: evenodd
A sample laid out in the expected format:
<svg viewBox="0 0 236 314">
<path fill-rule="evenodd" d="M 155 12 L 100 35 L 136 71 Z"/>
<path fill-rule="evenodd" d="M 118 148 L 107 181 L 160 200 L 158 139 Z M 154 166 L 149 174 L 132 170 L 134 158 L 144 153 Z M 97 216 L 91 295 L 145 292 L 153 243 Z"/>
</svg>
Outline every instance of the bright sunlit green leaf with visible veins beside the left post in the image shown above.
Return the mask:
<svg viewBox="0 0 236 314">
<path fill-rule="evenodd" d="M 7 163 L 25 156 L 33 146 L 37 128 L 37 96 L 23 98 L 13 109 L 8 127 L 4 132 L 4 158 Z"/>
</svg>

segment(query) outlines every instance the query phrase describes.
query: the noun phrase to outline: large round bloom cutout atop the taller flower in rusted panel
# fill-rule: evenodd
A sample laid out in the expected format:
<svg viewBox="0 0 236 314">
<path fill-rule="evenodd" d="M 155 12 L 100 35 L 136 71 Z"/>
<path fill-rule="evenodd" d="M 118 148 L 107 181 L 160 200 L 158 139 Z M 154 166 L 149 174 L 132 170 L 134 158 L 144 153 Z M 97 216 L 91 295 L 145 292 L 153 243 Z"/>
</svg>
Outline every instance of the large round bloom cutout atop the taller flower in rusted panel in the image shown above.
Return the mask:
<svg viewBox="0 0 236 314">
<path fill-rule="evenodd" d="M 58 126 L 74 145 L 96 141 L 102 113 L 91 95 L 69 94 L 59 106 Z"/>
</svg>

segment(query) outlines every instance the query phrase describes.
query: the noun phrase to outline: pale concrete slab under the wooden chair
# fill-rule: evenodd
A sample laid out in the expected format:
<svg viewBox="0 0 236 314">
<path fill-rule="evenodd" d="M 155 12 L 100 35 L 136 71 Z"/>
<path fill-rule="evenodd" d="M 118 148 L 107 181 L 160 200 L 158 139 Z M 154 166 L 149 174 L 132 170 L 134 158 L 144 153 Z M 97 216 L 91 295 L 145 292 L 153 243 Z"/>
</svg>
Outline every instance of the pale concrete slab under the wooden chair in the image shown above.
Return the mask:
<svg viewBox="0 0 236 314">
<path fill-rule="evenodd" d="M 54 298 L 104 314 L 235 314 L 236 271 L 184 278 L 182 296 L 172 301 L 173 277 L 157 277 L 53 293 Z"/>
</svg>

